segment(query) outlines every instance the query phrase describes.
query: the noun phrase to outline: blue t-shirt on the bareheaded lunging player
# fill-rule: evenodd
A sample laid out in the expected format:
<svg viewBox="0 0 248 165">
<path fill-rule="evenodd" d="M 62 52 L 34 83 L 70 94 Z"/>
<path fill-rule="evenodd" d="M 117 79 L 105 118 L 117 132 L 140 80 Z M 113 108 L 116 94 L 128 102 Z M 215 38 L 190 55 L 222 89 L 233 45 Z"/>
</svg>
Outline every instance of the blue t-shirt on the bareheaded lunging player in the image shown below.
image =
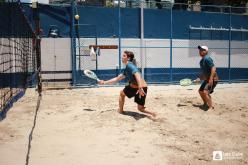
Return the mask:
<svg viewBox="0 0 248 165">
<path fill-rule="evenodd" d="M 129 61 L 122 74 L 128 79 L 129 83 L 137 84 L 137 80 L 134 76 L 134 73 L 136 72 L 139 72 L 138 68 Z"/>
</svg>

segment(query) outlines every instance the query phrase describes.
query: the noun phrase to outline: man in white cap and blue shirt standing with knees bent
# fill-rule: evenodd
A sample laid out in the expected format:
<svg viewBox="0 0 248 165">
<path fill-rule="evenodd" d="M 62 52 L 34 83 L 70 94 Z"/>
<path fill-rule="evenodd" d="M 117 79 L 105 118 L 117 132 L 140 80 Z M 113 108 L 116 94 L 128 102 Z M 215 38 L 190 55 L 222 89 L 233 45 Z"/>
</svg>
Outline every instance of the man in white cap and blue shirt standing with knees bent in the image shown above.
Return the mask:
<svg viewBox="0 0 248 165">
<path fill-rule="evenodd" d="M 199 55 L 202 57 L 200 61 L 201 75 L 200 78 L 195 81 L 203 80 L 201 87 L 199 88 L 199 94 L 203 100 L 203 108 L 205 110 L 213 109 L 213 102 L 210 96 L 214 92 L 214 88 L 218 82 L 218 76 L 216 73 L 216 67 L 214 66 L 213 59 L 208 55 L 207 46 L 198 46 Z"/>
</svg>

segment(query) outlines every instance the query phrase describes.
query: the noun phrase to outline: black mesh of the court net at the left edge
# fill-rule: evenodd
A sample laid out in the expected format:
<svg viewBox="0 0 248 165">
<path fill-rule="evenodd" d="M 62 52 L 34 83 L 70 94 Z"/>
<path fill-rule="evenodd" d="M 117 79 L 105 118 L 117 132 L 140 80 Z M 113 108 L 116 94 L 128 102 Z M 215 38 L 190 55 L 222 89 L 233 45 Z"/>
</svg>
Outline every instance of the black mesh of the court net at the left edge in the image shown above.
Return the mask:
<svg viewBox="0 0 248 165">
<path fill-rule="evenodd" d="M 35 34 L 18 3 L 0 3 L 0 114 L 36 70 Z"/>
</svg>

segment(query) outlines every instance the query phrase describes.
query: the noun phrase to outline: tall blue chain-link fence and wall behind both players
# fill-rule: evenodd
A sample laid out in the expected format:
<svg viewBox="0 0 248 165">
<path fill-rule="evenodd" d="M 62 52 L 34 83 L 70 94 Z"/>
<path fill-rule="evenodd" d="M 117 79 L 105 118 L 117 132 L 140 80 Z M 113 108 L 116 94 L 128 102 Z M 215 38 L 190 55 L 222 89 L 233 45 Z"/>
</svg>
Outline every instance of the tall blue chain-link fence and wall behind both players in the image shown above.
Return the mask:
<svg viewBox="0 0 248 165">
<path fill-rule="evenodd" d="M 81 73 L 89 67 L 89 63 L 100 78 L 116 76 L 117 71 L 121 72 L 120 56 L 126 49 L 135 52 L 138 66 L 149 83 L 172 83 L 185 77 L 194 78 L 199 73 L 198 45 L 209 47 L 209 54 L 222 81 L 248 80 L 246 8 L 188 4 L 173 4 L 172 7 L 165 4 L 158 9 L 157 4 L 143 4 L 142 16 L 139 3 L 132 4 L 132 7 L 138 8 L 130 8 L 128 4 L 125 3 L 125 7 L 41 6 L 43 37 L 48 37 L 51 25 L 56 25 L 60 37 L 72 38 L 74 85 L 91 83 Z M 78 21 L 74 20 L 75 14 L 80 15 Z M 78 24 L 80 28 L 76 29 Z M 108 67 L 102 62 L 107 56 L 106 50 L 102 50 L 96 62 L 90 62 L 90 58 L 80 53 L 83 47 L 88 47 L 92 38 L 96 38 L 95 44 L 111 42 L 119 46 L 112 54 L 115 61 L 110 60 Z"/>
</svg>

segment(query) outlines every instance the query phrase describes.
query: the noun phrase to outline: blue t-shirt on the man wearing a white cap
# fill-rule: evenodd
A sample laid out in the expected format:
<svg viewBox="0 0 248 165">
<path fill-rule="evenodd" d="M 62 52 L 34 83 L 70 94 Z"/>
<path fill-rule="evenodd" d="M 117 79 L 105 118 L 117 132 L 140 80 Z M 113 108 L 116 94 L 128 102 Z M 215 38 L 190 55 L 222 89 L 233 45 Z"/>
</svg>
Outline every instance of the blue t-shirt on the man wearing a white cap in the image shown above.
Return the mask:
<svg viewBox="0 0 248 165">
<path fill-rule="evenodd" d="M 214 67 L 213 59 L 209 55 L 204 56 L 200 61 L 200 66 L 204 77 L 208 79 L 211 75 L 211 68 Z"/>
</svg>

